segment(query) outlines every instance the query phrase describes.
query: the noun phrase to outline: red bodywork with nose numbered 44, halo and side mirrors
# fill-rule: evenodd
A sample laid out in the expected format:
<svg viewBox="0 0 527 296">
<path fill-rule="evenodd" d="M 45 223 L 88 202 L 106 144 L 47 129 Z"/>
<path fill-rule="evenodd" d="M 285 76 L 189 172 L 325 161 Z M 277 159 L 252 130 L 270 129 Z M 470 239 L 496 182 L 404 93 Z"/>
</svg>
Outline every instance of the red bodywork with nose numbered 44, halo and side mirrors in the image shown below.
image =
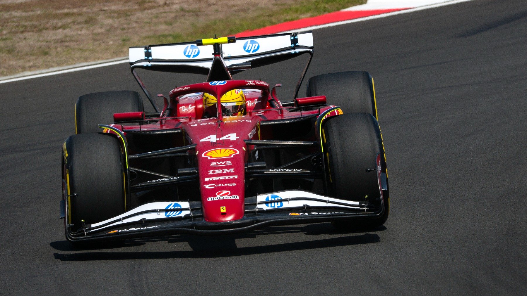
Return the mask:
<svg viewBox="0 0 527 296">
<path fill-rule="evenodd" d="M 219 85 L 218 85 L 219 84 Z M 246 115 L 202 118 L 204 106 L 202 93 L 216 98 L 232 89 L 243 89 L 246 95 Z M 273 92 L 274 93 L 274 92 Z M 314 101 L 320 101 L 316 97 Z M 309 100 L 309 99 L 307 99 Z M 325 100 L 325 98 L 324 98 Z M 218 100 L 218 104 L 221 102 Z M 225 222 L 241 219 L 245 203 L 245 164 L 253 146 L 244 140 L 265 140 L 272 137 L 260 128 L 268 120 L 316 116 L 334 106 L 322 106 L 313 110 L 294 109 L 282 106 L 276 96 L 271 95 L 269 84 L 259 80 L 212 81 L 178 87 L 170 91 L 168 104 L 162 110 L 157 123 L 140 126 L 112 125 L 123 131 L 182 129 L 182 143 L 173 147 L 196 144 L 199 188 L 203 218 L 208 222 Z M 293 109 L 292 109 L 293 108 Z M 289 110 L 291 109 L 291 110 Z M 340 110 L 326 117 L 341 114 Z M 118 118 L 124 117 L 117 115 Z M 114 132 L 106 129 L 105 132 Z M 129 151 L 133 153 L 134 151 Z"/>
</svg>

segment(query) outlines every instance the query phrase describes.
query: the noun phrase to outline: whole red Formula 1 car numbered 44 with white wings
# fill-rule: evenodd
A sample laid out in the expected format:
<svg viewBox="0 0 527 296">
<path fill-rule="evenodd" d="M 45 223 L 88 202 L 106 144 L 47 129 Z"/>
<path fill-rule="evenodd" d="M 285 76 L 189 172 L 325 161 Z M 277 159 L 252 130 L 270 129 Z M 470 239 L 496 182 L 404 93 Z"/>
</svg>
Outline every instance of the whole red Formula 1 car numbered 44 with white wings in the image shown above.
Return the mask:
<svg viewBox="0 0 527 296">
<path fill-rule="evenodd" d="M 62 149 L 67 240 L 382 225 L 388 180 L 367 72 L 312 77 L 308 97 L 297 98 L 306 67 L 288 102 L 279 85 L 232 78 L 303 54 L 310 62 L 311 32 L 131 47 L 132 73 L 155 112 L 135 91 L 79 98 Z M 138 68 L 207 80 L 158 95 L 158 109 Z"/>
</svg>

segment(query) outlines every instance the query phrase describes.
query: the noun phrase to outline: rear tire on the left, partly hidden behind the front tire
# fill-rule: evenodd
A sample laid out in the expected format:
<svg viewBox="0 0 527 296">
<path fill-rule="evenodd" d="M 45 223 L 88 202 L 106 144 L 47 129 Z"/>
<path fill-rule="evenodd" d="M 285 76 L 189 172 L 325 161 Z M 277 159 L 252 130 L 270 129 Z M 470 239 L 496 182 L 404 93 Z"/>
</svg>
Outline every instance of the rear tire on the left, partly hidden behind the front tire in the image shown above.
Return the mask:
<svg viewBox="0 0 527 296">
<path fill-rule="evenodd" d="M 113 114 L 143 111 L 141 96 L 132 90 L 103 91 L 79 97 L 75 104 L 75 134 L 99 132 L 100 124 L 113 124 Z"/>
</svg>

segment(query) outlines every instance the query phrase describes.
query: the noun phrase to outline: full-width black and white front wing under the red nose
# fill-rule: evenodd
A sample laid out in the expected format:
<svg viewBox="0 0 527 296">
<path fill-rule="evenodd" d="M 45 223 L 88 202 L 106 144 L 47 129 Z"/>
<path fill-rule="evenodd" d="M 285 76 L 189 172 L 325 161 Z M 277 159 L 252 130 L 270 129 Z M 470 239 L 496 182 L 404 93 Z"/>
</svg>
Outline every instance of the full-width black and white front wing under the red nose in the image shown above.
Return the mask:
<svg viewBox="0 0 527 296">
<path fill-rule="evenodd" d="M 157 201 L 146 203 L 114 217 L 72 232 L 66 238 L 88 243 L 174 234 L 218 235 L 247 232 L 262 227 L 337 220 L 374 219 L 383 215 L 386 205 L 368 201 L 349 201 L 317 195 L 304 190 L 266 193 L 245 200 L 242 219 L 207 222 L 199 201 Z M 64 207 L 67 209 L 66 207 Z M 67 213 L 64 213 L 67 217 Z"/>
</svg>

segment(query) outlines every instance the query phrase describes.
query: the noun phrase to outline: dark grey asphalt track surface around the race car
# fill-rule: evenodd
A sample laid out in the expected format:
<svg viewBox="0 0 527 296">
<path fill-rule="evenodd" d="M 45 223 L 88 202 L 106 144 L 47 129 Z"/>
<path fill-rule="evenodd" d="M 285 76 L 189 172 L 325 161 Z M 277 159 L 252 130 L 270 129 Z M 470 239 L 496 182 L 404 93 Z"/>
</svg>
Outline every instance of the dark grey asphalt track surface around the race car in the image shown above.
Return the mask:
<svg viewBox="0 0 527 296">
<path fill-rule="evenodd" d="M 526 32 L 524 0 L 315 31 L 310 76 L 375 78 L 391 213 L 366 233 L 321 223 L 72 249 L 58 203 L 75 100 L 138 87 L 125 64 L 2 84 L 0 293 L 524 294 Z M 289 90 L 291 71 L 274 75 Z"/>
</svg>

